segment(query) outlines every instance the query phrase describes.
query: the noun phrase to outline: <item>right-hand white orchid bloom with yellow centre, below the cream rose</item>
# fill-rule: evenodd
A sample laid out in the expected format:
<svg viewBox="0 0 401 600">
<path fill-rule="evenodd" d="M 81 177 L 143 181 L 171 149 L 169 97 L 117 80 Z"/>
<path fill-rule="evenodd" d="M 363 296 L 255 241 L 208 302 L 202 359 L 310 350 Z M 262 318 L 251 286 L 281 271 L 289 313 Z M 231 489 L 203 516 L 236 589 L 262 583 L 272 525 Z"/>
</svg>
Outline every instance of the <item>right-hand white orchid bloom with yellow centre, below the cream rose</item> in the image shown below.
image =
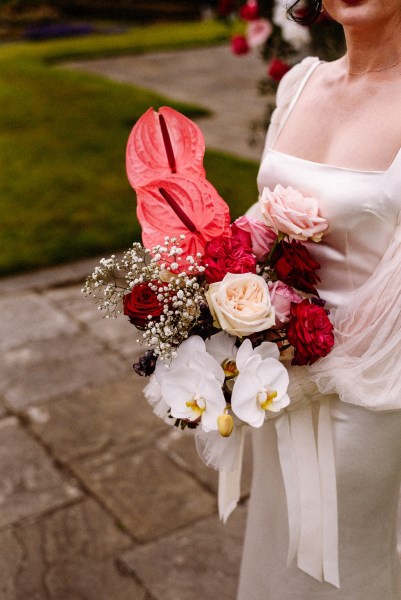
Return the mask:
<svg viewBox="0 0 401 600">
<path fill-rule="evenodd" d="M 290 403 L 289 377 L 279 362 L 276 344 L 263 342 L 253 350 L 245 340 L 237 353 L 239 375 L 231 396 L 234 414 L 252 427 L 261 427 L 266 411 L 279 412 Z"/>
</svg>

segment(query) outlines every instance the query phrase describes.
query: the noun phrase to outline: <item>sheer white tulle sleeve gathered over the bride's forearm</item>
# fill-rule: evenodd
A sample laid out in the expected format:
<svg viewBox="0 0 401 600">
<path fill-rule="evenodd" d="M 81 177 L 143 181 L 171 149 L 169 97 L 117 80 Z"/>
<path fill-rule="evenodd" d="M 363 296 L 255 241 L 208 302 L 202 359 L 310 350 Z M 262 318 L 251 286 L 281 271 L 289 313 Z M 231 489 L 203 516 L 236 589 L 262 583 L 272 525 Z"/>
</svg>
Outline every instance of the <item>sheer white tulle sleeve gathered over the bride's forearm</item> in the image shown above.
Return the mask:
<svg viewBox="0 0 401 600">
<path fill-rule="evenodd" d="M 309 367 L 319 391 L 371 410 L 401 409 L 400 217 L 373 275 L 332 311 L 331 320 L 334 347 Z"/>
</svg>

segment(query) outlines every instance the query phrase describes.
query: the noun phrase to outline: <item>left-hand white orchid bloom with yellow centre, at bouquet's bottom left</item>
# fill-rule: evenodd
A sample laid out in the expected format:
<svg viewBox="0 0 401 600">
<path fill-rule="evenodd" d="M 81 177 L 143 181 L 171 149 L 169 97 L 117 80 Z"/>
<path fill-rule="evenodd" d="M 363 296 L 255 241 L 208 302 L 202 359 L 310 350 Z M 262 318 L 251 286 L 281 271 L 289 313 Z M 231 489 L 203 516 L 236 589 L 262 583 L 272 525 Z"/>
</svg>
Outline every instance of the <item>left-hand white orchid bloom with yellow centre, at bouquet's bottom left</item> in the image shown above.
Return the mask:
<svg viewBox="0 0 401 600">
<path fill-rule="evenodd" d="M 177 350 L 170 367 L 156 368 L 163 401 L 176 419 L 196 421 L 205 431 L 217 430 L 226 407 L 224 371 L 199 336 L 191 336 Z"/>
</svg>

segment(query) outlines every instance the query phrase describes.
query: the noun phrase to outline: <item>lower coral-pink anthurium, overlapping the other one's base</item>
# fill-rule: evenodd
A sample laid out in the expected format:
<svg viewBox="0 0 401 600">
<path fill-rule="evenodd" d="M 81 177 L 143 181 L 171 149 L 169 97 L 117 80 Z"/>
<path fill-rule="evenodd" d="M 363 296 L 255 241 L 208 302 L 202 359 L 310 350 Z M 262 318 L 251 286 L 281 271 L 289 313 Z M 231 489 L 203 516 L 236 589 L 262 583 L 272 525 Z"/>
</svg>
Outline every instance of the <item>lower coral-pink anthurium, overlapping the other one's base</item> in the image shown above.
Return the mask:
<svg viewBox="0 0 401 600">
<path fill-rule="evenodd" d="M 206 179 L 171 175 L 137 189 L 137 215 L 144 246 L 163 244 L 165 236 L 185 235 L 183 256 L 196 256 L 206 242 L 230 235 L 230 212 Z"/>
</svg>

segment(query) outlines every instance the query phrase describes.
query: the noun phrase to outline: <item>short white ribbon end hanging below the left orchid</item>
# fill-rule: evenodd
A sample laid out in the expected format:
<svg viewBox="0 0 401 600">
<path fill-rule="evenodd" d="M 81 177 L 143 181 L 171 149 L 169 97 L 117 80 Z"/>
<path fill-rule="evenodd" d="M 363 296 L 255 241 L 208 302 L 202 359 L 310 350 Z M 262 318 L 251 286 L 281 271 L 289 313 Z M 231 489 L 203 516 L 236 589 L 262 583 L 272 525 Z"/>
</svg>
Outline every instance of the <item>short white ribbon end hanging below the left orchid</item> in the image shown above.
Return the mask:
<svg viewBox="0 0 401 600">
<path fill-rule="evenodd" d="M 239 427 L 233 467 L 227 470 L 219 468 L 218 510 L 219 518 L 225 523 L 235 510 L 241 495 L 242 456 L 244 453 L 244 428 Z"/>
</svg>

